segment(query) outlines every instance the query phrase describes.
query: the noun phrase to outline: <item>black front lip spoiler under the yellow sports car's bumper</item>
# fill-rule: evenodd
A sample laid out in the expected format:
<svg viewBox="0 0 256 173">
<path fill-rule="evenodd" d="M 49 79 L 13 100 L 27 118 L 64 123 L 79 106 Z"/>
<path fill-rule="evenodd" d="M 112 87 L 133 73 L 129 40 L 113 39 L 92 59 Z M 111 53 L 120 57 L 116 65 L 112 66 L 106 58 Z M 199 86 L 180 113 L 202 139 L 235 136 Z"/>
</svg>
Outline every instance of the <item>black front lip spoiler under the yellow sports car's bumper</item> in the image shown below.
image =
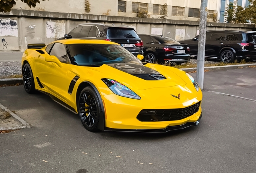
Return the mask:
<svg viewBox="0 0 256 173">
<path fill-rule="evenodd" d="M 166 127 L 165 129 L 112 129 L 112 128 L 105 127 L 104 131 L 137 132 L 137 133 L 167 133 L 169 131 L 186 129 L 187 127 L 190 127 L 190 126 L 199 125 L 201 118 L 202 118 L 202 113 L 196 122 L 188 122 L 178 126 L 169 126 L 169 127 Z"/>
</svg>

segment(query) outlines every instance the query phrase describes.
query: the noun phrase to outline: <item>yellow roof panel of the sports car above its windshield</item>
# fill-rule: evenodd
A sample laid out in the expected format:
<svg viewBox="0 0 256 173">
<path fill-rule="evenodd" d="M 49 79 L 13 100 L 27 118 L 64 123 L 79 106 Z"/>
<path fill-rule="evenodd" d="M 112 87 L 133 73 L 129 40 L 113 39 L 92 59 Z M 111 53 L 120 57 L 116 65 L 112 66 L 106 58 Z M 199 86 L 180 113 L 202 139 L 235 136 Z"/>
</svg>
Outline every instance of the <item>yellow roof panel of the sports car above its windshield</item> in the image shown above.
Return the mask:
<svg viewBox="0 0 256 173">
<path fill-rule="evenodd" d="M 83 39 L 63 39 L 56 40 L 53 43 L 62 43 L 62 44 L 117 44 L 115 42 L 105 41 L 105 40 L 83 40 Z"/>
</svg>

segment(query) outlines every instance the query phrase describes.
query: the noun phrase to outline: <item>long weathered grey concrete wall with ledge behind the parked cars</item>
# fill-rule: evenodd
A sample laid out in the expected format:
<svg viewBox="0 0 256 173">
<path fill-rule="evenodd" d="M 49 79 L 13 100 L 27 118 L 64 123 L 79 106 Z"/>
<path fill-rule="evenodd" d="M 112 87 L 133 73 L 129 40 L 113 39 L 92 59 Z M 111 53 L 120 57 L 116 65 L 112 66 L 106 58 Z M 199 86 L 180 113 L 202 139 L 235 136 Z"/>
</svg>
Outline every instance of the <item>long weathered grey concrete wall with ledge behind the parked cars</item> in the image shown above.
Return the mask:
<svg viewBox="0 0 256 173">
<path fill-rule="evenodd" d="M 192 39 L 199 34 L 198 21 L 131 18 L 70 14 L 31 10 L 12 10 L 0 13 L 0 50 L 26 49 L 29 43 L 48 44 L 83 23 L 128 25 L 138 34 L 163 34 L 175 40 Z M 254 30 L 254 25 L 207 23 L 207 30 Z"/>
</svg>

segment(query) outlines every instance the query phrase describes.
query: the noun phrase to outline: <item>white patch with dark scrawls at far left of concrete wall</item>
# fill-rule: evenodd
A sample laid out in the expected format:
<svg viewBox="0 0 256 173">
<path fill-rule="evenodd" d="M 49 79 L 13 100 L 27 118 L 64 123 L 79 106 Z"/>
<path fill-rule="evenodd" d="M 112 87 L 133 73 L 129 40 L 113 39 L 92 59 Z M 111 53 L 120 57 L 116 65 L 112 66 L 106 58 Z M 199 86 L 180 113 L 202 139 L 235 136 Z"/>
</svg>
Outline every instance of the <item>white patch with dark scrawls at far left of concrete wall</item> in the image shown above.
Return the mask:
<svg viewBox="0 0 256 173">
<path fill-rule="evenodd" d="M 0 36 L 18 37 L 17 20 L 0 18 Z"/>
</svg>

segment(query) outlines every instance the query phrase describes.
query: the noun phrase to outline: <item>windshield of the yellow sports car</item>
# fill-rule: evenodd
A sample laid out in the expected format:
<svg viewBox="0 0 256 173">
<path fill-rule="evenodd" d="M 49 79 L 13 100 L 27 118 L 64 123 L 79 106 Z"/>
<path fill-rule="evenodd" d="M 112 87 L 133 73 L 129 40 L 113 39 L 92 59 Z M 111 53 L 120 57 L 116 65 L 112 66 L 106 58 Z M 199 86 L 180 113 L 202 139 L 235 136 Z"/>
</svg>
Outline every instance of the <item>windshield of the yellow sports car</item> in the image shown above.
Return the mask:
<svg viewBox="0 0 256 173">
<path fill-rule="evenodd" d="M 142 62 L 131 52 L 115 44 L 67 44 L 71 63 L 78 66 Z"/>
</svg>

